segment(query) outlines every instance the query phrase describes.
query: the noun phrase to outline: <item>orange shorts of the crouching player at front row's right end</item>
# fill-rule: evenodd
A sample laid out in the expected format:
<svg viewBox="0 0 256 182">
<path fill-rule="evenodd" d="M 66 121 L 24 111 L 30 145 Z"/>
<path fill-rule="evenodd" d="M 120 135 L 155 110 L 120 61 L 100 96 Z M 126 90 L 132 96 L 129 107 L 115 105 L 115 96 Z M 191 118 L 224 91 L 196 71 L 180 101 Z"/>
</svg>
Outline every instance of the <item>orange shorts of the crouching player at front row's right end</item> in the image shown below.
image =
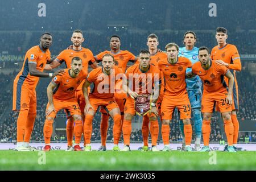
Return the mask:
<svg viewBox="0 0 256 182">
<path fill-rule="evenodd" d="M 227 93 L 203 93 L 202 113 L 213 113 L 215 105 L 221 113 L 232 111 L 232 106 L 225 102 L 226 96 Z"/>
</svg>

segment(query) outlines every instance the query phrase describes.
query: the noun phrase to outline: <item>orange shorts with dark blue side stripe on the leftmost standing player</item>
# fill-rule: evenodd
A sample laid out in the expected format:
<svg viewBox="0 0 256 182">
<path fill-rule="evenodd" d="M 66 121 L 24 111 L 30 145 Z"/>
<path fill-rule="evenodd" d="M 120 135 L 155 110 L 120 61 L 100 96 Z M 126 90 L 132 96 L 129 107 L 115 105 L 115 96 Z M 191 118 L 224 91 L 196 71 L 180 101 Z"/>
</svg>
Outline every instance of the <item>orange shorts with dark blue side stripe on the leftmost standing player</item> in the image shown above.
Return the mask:
<svg viewBox="0 0 256 182">
<path fill-rule="evenodd" d="M 36 91 L 26 85 L 13 83 L 13 110 L 28 110 L 30 114 L 36 113 Z"/>
</svg>

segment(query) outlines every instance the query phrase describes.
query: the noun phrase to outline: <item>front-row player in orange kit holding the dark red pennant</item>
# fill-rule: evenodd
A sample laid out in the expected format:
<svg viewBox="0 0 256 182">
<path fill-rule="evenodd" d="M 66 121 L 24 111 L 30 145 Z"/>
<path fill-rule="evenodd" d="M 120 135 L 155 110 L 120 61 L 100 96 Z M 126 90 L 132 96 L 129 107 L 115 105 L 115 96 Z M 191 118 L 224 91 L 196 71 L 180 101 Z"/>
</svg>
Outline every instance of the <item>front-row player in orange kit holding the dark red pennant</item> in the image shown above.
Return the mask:
<svg viewBox="0 0 256 182">
<path fill-rule="evenodd" d="M 130 135 L 131 135 L 131 120 L 138 113 L 137 100 L 142 99 L 148 101 L 147 110 L 143 110 L 142 115 L 147 114 L 150 125 L 152 126 L 152 151 L 158 152 L 156 142 L 158 140 L 158 109 L 156 101 L 158 100 L 161 89 L 161 73 L 157 67 L 150 65 L 150 52 L 147 49 L 142 49 L 139 52 L 139 64 L 135 64 L 127 69 L 126 81 L 123 81 L 123 90 L 129 94 L 125 104 L 125 118 L 123 121 L 123 141 L 125 147 L 122 151 L 130 151 Z M 154 88 L 154 89 L 153 89 Z M 154 94 L 152 96 L 152 94 Z M 152 96 L 152 98 L 150 98 Z M 147 111 L 147 112 L 146 112 Z M 141 111 L 139 111 L 141 113 Z"/>
</svg>

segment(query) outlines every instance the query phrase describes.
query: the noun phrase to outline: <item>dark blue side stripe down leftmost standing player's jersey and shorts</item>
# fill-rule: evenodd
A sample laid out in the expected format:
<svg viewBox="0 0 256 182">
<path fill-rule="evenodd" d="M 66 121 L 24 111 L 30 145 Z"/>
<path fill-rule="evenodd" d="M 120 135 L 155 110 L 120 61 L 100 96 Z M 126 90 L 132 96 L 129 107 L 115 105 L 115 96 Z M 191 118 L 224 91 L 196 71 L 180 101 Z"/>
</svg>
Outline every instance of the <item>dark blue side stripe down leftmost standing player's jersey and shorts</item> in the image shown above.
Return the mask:
<svg viewBox="0 0 256 182">
<path fill-rule="evenodd" d="M 20 110 L 20 95 L 21 95 L 21 89 L 23 82 L 26 80 L 29 73 L 28 69 L 28 59 L 25 61 L 24 69 L 22 72 L 22 75 L 19 76 L 19 80 L 17 83 L 17 90 L 16 90 L 16 110 Z"/>
</svg>

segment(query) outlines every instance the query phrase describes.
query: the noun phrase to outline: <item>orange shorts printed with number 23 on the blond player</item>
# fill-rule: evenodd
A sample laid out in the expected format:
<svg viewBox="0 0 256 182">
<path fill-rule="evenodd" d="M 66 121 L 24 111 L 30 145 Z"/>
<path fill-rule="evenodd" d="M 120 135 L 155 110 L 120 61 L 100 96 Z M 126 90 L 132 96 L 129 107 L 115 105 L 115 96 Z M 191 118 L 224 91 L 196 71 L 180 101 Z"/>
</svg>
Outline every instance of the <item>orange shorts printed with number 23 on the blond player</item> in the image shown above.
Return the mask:
<svg viewBox="0 0 256 182">
<path fill-rule="evenodd" d="M 188 95 L 185 95 L 183 98 L 171 98 L 170 96 L 164 95 L 161 107 L 162 119 L 171 120 L 175 107 L 177 107 L 180 112 L 180 119 L 191 118 L 191 105 Z"/>
</svg>

